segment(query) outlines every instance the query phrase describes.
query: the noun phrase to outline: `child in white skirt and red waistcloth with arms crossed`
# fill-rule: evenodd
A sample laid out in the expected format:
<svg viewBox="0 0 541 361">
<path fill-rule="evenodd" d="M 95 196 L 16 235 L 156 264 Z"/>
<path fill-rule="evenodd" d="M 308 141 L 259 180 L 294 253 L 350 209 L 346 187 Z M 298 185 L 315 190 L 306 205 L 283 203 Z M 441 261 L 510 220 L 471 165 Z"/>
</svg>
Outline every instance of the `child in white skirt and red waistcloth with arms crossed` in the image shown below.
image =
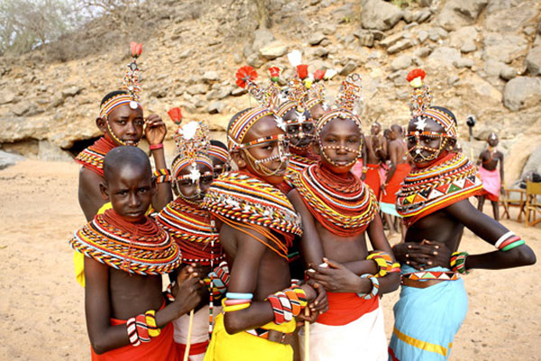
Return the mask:
<svg viewBox="0 0 541 361">
<path fill-rule="evenodd" d="M 302 255 L 316 271 L 307 274 L 324 285 L 329 302 L 329 310 L 310 328 L 310 360 L 342 360 L 354 355 L 386 360 L 387 338 L 378 295 L 399 286 L 399 265 L 383 234 L 377 199 L 350 172 L 362 149 L 361 120 L 352 112 L 352 99 L 359 92 L 355 77 L 344 82 L 340 107 L 317 122 L 321 161 L 299 173 L 293 180 L 295 189 L 289 193 L 302 218 Z M 365 232 L 377 250 L 372 255 Z M 315 266 L 322 262 L 329 268 Z"/>
</svg>

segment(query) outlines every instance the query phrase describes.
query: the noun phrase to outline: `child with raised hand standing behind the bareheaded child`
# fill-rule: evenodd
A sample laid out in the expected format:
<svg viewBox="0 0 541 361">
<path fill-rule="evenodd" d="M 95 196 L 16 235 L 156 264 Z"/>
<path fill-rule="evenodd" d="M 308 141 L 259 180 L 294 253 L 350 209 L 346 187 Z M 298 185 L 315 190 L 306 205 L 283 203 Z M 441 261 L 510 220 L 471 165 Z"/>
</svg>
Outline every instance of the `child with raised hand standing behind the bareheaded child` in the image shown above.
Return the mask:
<svg viewBox="0 0 541 361">
<path fill-rule="evenodd" d="M 158 115 L 143 117 L 137 64 L 137 59 L 142 54 L 142 44 L 132 42 L 130 47 L 133 60 L 128 64 L 124 75 L 124 90 L 110 92 L 101 101 L 96 125 L 104 135 L 75 158 L 75 162 L 82 165 L 78 180 L 78 202 L 87 221 L 97 213 L 111 208 L 111 204 L 102 198 L 99 190 L 100 184 L 104 182 L 105 154 L 121 145 L 137 146 L 143 134 L 150 144 L 157 170 L 154 176 L 158 184 L 151 208 L 163 208 L 172 199 L 170 176 L 162 144 L 167 128 Z M 83 256 L 76 252 L 73 257 L 76 278 L 84 287 L 83 261 Z"/>
</svg>

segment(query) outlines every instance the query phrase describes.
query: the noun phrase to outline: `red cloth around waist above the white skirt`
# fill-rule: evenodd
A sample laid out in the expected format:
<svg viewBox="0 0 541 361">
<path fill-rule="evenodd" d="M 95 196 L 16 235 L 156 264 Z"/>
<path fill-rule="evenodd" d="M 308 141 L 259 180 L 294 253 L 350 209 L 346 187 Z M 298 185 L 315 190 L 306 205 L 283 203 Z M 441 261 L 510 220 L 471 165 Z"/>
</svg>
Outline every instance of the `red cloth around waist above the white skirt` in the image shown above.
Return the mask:
<svg viewBox="0 0 541 361">
<path fill-rule="evenodd" d="M 327 292 L 327 301 L 329 310 L 319 315 L 316 322 L 329 326 L 346 325 L 380 306 L 379 297 L 364 300 L 356 293 Z"/>
</svg>

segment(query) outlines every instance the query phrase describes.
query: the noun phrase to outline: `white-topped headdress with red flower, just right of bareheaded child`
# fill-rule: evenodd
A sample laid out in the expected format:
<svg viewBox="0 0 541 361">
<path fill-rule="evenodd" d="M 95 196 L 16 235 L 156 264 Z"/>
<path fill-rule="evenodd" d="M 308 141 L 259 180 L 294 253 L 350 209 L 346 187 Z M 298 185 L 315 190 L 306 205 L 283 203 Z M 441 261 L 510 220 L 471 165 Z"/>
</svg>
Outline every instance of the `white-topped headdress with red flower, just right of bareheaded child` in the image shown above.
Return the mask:
<svg viewBox="0 0 541 361">
<path fill-rule="evenodd" d="M 182 115 L 179 107 L 170 109 L 168 114 L 173 122 L 179 125 L 177 131 L 173 134 L 173 139 L 179 151 L 171 165 L 173 178 L 175 180 L 186 178 L 197 182 L 201 176 L 206 175 L 206 173 L 200 173 L 197 169 L 197 163 L 204 164 L 211 170 L 213 169 L 212 162 L 208 158 L 208 147 L 210 145 L 208 125 L 203 121 L 192 121 L 180 125 Z M 179 176 L 179 171 L 182 171 L 188 165 L 191 166 L 190 173 Z M 212 172 L 209 175 L 212 175 Z"/>
</svg>

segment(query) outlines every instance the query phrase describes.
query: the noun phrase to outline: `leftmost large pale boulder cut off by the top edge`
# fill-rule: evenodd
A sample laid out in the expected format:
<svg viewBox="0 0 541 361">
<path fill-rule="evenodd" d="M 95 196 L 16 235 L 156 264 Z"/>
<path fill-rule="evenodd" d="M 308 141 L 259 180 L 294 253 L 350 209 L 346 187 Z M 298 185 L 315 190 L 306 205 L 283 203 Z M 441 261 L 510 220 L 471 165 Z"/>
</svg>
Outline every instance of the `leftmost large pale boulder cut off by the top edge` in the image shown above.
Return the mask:
<svg viewBox="0 0 541 361">
<path fill-rule="evenodd" d="M 389 30 L 402 18 L 402 11 L 383 0 L 363 0 L 361 23 L 364 29 Z"/>
</svg>

